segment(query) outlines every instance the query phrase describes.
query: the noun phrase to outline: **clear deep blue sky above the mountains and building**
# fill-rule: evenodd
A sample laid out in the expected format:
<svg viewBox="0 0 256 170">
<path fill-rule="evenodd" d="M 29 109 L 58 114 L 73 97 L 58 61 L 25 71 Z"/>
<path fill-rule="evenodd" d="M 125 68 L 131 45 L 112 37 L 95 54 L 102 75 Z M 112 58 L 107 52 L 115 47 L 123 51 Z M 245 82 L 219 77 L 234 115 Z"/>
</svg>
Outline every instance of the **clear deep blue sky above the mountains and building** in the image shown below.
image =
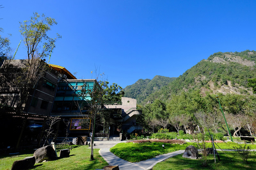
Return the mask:
<svg viewBox="0 0 256 170">
<path fill-rule="evenodd" d="M 33 12 L 55 18 L 51 64 L 77 78 L 95 66 L 123 88 L 140 78 L 178 77 L 215 52 L 255 49 L 256 1 L 1 1 L 0 27 L 16 49 L 19 22 Z M 24 59 L 22 44 L 16 59 Z M 46 59 L 48 60 L 48 59 Z"/>
</svg>

